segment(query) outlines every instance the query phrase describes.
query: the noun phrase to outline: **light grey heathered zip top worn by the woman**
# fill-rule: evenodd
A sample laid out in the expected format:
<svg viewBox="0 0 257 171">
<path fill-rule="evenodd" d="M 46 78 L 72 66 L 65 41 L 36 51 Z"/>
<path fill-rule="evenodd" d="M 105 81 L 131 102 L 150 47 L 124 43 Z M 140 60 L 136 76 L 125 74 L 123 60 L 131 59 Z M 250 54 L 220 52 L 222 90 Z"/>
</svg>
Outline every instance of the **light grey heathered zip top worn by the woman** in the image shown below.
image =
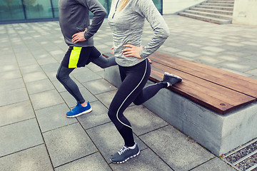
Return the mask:
<svg viewBox="0 0 257 171">
<path fill-rule="evenodd" d="M 129 0 L 128 4 L 119 11 L 121 0 L 112 0 L 108 16 L 109 26 L 114 38 L 114 56 L 120 66 L 134 66 L 156 51 L 166 41 L 169 29 L 152 0 Z M 126 57 L 122 50 L 124 44 L 141 45 L 145 19 L 153 28 L 151 41 L 140 51 L 140 58 Z"/>
</svg>

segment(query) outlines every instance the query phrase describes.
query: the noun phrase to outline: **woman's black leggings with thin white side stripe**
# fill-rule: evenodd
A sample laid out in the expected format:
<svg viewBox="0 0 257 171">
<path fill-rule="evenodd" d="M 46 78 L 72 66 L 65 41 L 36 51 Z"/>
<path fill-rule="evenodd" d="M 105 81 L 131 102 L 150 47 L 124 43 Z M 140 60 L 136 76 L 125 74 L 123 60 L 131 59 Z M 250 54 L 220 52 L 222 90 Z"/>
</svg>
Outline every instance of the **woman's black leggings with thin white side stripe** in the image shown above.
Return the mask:
<svg viewBox="0 0 257 171">
<path fill-rule="evenodd" d="M 160 82 L 143 88 L 151 73 L 151 65 L 147 59 L 136 66 L 119 66 L 119 71 L 122 83 L 111 101 L 108 115 L 117 130 L 119 130 L 122 138 L 124 138 L 125 145 L 131 147 L 134 145 L 133 133 L 129 120 L 123 114 L 124 110 L 132 102 L 135 105 L 141 105 L 146 102 L 153 95 L 156 95 L 158 90 L 166 87 L 167 83 Z"/>
</svg>

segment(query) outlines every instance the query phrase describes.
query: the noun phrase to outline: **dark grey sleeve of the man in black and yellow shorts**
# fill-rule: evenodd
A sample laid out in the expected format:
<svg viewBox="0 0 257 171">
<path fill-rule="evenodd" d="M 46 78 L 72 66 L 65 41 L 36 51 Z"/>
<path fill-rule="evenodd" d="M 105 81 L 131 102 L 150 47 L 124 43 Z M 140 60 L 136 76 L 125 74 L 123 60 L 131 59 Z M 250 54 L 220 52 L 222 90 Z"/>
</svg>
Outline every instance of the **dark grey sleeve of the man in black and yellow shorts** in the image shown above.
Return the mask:
<svg viewBox="0 0 257 171">
<path fill-rule="evenodd" d="M 104 18 L 106 16 L 106 9 L 104 6 L 100 4 L 98 0 L 78 0 L 79 3 L 86 6 L 89 11 L 93 13 L 93 19 L 91 24 L 86 28 L 86 32 L 84 33 L 84 38 L 89 39 L 91 36 L 99 30 L 101 24 L 104 22 Z"/>
</svg>

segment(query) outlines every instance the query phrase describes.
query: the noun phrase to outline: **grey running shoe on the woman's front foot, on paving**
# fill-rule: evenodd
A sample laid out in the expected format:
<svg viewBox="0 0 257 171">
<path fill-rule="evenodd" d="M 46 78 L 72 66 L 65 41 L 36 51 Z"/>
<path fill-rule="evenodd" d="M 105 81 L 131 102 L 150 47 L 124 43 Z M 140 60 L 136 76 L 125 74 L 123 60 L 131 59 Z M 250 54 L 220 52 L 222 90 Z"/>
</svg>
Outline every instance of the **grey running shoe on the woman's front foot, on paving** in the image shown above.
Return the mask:
<svg viewBox="0 0 257 171">
<path fill-rule="evenodd" d="M 121 164 L 126 162 L 127 160 L 136 157 L 139 155 L 140 150 L 138 148 L 138 145 L 136 144 L 136 147 L 134 149 L 129 148 L 128 146 L 124 145 L 121 150 L 116 152 L 114 155 L 111 155 L 111 162 Z"/>
</svg>

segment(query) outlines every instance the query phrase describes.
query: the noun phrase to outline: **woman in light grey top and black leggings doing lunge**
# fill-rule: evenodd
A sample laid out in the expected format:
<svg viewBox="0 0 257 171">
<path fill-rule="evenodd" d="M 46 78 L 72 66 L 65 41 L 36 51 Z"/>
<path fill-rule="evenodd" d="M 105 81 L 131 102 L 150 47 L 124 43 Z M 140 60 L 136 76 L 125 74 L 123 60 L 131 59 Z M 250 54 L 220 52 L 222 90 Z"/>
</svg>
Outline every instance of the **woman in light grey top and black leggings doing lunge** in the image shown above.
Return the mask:
<svg viewBox="0 0 257 171">
<path fill-rule="evenodd" d="M 141 37 L 145 19 L 153 28 L 151 41 L 143 48 Z M 158 90 L 182 81 L 178 76 L 164 73 L 163 81 L 143 88 L 150 76 L 147 57 L 168 38 L 169 29 L 152 0 L 112 0 L 108 17 L 114 38 L 114 56 L 119 65 L 122 84 L 109 108 L 109 118 L 124 138 L 125 145 L 111 156 L 111 162 L 123 163 L 139 155 L 138 145 L 124 110 L 133 102 L 141 105 Z"/>
</svg>

